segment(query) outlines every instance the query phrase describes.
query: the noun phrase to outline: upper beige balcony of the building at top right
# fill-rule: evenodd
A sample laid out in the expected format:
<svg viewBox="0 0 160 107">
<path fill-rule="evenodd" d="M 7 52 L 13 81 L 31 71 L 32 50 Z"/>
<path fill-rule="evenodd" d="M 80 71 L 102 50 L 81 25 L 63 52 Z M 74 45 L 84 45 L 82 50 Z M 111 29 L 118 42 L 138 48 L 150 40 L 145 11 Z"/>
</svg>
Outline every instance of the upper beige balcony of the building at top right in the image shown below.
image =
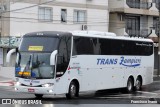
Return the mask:
<svg viewBox="0 0 160 107">
<path fill-rule="evenodd" d="M 133 2 L 133 0 L 108 0 L 110 13 L 158 16 L 156 4 L 151 2 Z M 135 1 L 135 0 L 134 0 Z"/>
</svg>

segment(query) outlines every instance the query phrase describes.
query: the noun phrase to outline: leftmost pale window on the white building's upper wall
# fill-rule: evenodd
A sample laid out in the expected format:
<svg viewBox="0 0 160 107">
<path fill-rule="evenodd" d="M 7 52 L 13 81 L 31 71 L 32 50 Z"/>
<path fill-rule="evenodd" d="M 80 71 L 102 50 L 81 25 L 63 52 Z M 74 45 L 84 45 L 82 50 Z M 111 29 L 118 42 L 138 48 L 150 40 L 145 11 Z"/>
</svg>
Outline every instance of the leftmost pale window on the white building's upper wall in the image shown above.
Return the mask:
<svg viewBox="0 0 160 107">
<path fill-rule="evenodd" d="M 39 7 L 38 19 L 40 21 L 52 21 L 52 11 L 50 7 Z"/>
</svg>

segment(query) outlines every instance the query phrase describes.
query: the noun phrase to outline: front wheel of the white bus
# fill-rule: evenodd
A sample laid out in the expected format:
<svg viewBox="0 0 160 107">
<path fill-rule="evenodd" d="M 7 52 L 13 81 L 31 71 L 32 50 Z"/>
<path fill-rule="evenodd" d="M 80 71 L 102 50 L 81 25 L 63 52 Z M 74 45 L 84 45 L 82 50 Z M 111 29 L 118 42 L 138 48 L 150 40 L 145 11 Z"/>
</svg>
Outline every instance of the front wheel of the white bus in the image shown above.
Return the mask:
<svg viewBox="0 0 160 107">
<path fill-rule="evenodd" d="M 74 81 L 72 81 L 69 85 L 69 90 L 68 93 L 66 94 L 66 98 L 67 99 L 72 99 L 75 98 L 77 96 L 77 85 L 75 84 Z"/>
</svg>

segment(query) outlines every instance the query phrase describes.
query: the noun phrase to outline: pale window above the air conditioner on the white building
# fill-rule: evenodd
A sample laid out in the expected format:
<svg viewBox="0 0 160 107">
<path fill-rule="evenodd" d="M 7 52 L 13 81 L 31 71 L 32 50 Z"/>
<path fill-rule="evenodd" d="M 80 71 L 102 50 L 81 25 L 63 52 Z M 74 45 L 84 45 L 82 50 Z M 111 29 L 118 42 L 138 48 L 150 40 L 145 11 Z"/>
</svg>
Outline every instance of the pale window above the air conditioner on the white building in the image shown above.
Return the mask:
<svg viewBox="0 0 160 107">
<path fill-rule="evenodd" d="M 86 10 L 74 10 L 74 22 L 86 22 Z"/>
</svg>

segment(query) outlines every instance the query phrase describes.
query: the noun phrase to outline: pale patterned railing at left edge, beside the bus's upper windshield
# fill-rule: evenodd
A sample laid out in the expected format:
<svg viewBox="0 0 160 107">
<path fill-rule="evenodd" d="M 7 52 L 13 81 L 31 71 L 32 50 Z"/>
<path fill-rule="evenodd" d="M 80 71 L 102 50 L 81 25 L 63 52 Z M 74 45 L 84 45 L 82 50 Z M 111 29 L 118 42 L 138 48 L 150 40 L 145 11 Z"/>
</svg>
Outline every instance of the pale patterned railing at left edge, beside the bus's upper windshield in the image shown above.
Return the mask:
<svg viewBox="0 0 160 107">
<path fill-rule="evenodd" d="M 0 47 L 18 47 L 20 44 L 20 37 L 2 36 L 0 37 Z"/>
</svg>

